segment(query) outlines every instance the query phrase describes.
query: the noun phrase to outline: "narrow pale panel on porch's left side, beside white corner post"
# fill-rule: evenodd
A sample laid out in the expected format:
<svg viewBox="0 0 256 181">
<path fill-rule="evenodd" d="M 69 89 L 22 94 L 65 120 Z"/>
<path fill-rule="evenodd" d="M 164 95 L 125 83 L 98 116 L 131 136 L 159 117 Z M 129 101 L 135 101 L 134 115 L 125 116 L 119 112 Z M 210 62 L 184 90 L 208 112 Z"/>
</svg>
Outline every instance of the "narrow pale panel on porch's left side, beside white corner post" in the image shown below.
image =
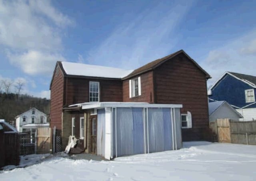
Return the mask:
<svg viewBox="0 0 256 181">
<path fill-rule="evenodd" d="M 105 109 L 99 109 L 97 114 L 97 155 L 105 154 Z"/>
</svg>

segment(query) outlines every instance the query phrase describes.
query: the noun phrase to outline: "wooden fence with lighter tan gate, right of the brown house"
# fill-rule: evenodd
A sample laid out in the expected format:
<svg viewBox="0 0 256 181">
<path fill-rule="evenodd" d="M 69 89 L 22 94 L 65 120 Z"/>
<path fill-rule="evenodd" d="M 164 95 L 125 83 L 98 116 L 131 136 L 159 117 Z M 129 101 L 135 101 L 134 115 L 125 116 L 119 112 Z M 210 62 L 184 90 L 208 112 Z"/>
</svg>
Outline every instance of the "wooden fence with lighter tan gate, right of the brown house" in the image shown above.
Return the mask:
<svg viewBox="0 0 256 181">
<path fill-rule="evenodd" d="M 218 135 L 218 142 L 256 145 L 256 121 L 217 119 L 210 128 Z"/>
</svg>

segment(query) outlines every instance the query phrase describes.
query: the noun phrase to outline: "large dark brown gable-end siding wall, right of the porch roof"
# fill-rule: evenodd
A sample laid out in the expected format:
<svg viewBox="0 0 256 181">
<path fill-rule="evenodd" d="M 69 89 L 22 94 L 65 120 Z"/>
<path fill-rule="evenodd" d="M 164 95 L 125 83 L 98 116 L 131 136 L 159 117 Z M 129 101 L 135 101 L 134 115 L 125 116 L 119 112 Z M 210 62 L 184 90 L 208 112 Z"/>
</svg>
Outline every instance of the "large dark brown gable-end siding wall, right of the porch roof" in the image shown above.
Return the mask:
<svg viewBox="0 0 256 181">
<path fill-rule="evenodd" d="M 182 129 L 182 138 L 202 140 L 209 127 L 205 74 L 183 54 L 154 70 L 155 100 L 158 104 L 183 104 L 182 113 L 192 114 L 192 128 Z"/>
</svg>

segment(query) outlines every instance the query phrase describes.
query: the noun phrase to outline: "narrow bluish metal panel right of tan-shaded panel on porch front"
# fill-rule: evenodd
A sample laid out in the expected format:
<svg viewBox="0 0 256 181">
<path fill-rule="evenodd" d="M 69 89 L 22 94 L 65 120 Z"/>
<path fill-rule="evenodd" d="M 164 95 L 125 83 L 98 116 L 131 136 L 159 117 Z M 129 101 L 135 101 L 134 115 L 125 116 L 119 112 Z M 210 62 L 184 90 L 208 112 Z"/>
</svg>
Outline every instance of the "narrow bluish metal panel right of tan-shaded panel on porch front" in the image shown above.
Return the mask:
<svg viewBox="0 0 256 181">
<path fill-rule="evenodd" d="M 144 153 L 144 125 L 143 125 L 143 109 L 132 108 L 133 122 L 133 153 Z"/>
</svg>

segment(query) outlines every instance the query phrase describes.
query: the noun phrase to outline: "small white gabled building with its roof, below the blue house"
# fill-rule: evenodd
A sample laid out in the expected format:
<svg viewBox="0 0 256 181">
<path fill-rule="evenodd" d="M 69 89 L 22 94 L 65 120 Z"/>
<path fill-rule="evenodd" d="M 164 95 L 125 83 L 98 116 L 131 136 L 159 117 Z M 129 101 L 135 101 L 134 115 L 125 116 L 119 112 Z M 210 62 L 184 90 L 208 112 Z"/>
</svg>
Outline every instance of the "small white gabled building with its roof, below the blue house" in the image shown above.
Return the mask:
<svg viewBox="0 0 256 181">
<path fill-rule="evenodd" d="M 243 116 L 226 101 L 209 102 L 209 121 L 222 118 L 239 121 Z"/>
</svg>

